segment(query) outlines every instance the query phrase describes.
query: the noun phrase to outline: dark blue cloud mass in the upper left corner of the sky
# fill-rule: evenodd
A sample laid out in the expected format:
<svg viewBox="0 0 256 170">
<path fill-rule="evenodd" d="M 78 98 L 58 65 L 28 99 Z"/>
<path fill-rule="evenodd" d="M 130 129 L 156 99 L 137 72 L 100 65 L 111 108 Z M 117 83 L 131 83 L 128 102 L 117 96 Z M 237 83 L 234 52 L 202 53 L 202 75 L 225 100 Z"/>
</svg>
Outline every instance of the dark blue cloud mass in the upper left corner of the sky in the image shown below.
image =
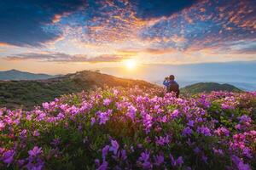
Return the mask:
<svg viewBox="0 0 256 170">
<path fill-rule="evenodd" d="M 55 41 L 61 30 L 44 29 L 61 15 L 82 8 L 84 0 L 8 0 L 0 2 L 0 42 L 40 46 Z"/>
</svg>

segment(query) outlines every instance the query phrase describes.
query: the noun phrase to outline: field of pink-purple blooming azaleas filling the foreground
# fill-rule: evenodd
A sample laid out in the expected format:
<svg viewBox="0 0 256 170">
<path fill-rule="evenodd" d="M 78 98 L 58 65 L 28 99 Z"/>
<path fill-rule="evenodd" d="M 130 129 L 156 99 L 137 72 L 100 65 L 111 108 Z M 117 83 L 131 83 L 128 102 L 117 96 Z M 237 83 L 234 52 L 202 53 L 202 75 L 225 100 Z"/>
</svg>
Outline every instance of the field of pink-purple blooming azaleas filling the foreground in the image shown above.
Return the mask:
<svg viewBox="0 0 256 170">
<path fill-rule="evenodd" d="M 0 110 L 0 169 L 256 169 L 256 93 L 104 88 Z"/>
</svg>

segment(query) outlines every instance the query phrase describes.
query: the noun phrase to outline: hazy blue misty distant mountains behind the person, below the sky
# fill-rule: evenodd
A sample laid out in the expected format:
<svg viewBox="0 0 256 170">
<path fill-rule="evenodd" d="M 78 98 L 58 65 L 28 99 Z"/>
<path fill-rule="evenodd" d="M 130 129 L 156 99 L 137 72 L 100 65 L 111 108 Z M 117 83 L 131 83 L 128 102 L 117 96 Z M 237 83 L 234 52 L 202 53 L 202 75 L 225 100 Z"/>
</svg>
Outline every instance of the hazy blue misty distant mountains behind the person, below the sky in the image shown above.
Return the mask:
<svg viewBox="0 0 256 170">
<path fill-rule="evenodd" d="M 141 65 L 137 71 L 102 68 L 102 72 L 119 77 L 133 77 L 162 84 L 165 77 L 175 75 L 181 87 L 196 82 L 229 83 L 247 91 L 256 90 L 256 61 L 201 63 L 189 65 Z"/>
</svg>

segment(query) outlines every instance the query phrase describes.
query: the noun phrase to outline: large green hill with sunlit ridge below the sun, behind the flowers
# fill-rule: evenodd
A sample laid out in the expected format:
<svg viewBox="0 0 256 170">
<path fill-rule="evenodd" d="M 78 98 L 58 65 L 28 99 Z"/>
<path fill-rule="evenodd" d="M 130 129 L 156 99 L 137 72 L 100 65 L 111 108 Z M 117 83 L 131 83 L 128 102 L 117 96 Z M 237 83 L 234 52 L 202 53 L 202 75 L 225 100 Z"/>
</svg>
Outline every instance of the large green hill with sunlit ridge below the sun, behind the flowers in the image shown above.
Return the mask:
<svg viewBox="0 0 256 170">
<path fill-rule="evenodd" d="M 31 109 L 34 105 L 55 99 L 62 94 L 72 94 L 106 85 L 108 87 L 137 85 L 148 88 L 155 86 L 149 82 L 123 79 L 94 71 L 80 71 L 47 80 L 2 81 L 0 107 L 18 108 L 23 105 L 25 109 Z"/>
</svg>

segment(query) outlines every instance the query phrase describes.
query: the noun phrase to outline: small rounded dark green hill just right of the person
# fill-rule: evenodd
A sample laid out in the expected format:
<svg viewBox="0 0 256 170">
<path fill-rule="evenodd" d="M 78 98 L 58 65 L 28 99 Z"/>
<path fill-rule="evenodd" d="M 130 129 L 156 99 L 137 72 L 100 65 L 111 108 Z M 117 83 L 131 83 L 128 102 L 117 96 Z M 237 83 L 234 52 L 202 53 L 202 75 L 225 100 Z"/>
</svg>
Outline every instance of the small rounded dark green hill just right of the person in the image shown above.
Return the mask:
<svg viewBox="0 0 256 170">
<path fill-rule="evenodd" d="M 212 91 L 241 92 L 241 89 L 230 84 L 219 84 L 217 82 L 199 82 L 181 88 L 181 93 L 183 94 L 197 94 L 202 92 L 209 93 Z"/>
</svg>

